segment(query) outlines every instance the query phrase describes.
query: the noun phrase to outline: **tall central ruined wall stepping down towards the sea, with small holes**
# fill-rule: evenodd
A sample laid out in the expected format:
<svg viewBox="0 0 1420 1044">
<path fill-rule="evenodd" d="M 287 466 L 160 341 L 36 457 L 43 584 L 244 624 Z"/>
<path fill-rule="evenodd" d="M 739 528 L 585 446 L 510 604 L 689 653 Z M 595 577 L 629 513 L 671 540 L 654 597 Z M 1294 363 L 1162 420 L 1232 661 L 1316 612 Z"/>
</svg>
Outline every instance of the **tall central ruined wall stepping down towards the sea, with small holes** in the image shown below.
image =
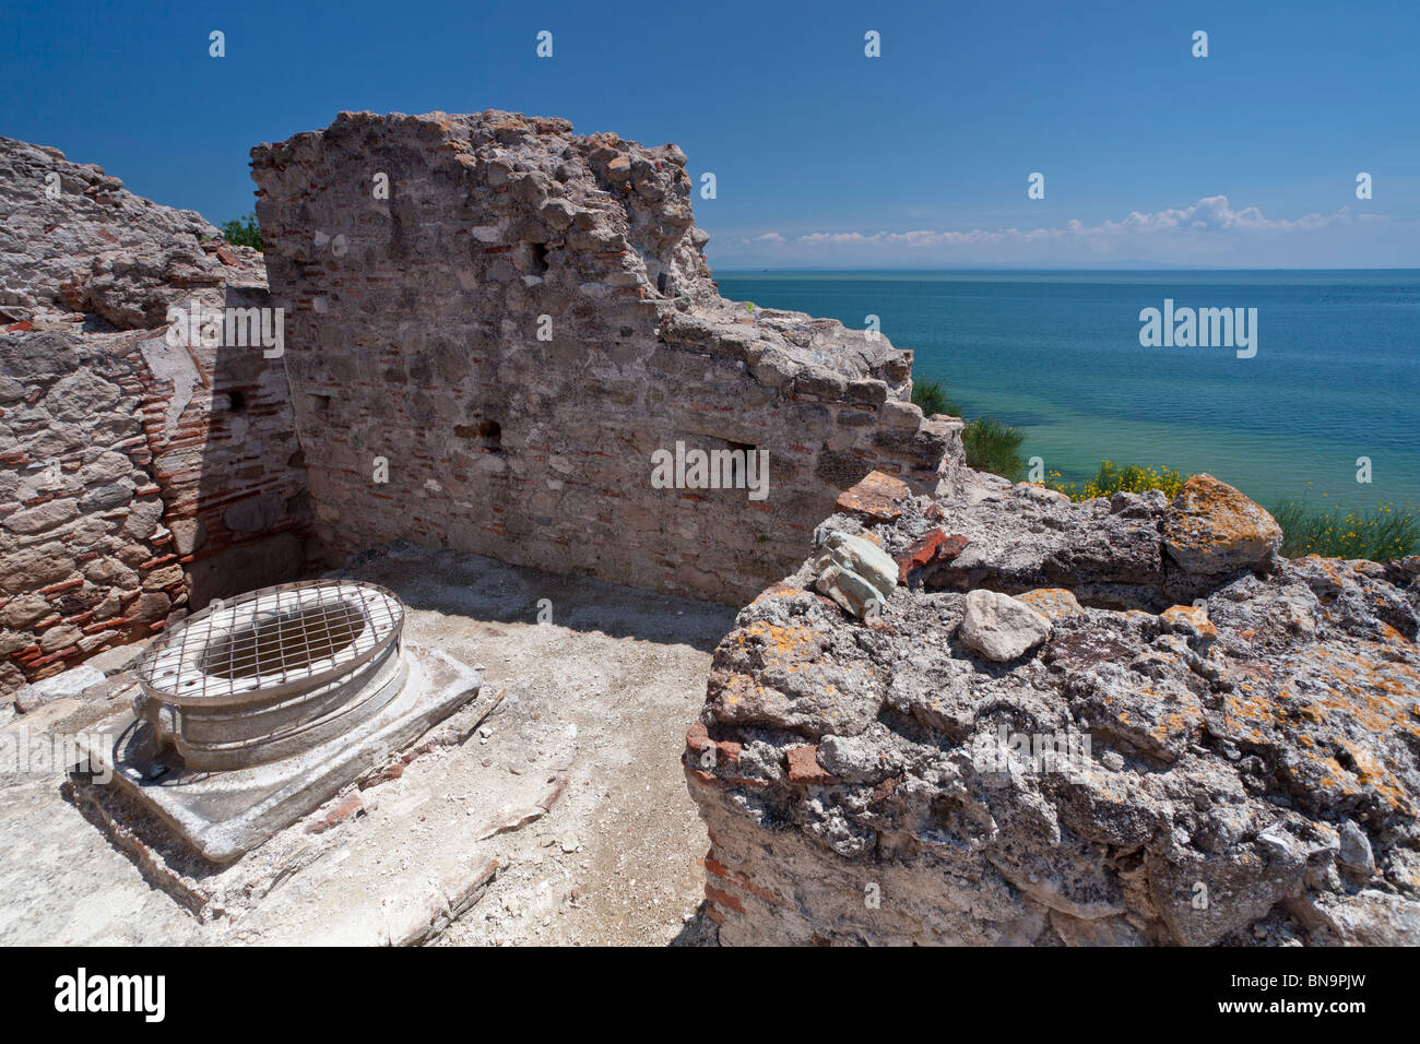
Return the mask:
<svg viewBox="0 0 1420 1044">
<path fill-rule="evenodd" d="M 332 555 L 405 538 L 738 602 L 870 469 L 950 486 L 960 425 L 907 402 L 909 352 L 719 297 L 684 163 L 506 112 L 253 149 Z M 677 442 L 768 450 L 767 499 L 653 489 Z"/>
</svg>

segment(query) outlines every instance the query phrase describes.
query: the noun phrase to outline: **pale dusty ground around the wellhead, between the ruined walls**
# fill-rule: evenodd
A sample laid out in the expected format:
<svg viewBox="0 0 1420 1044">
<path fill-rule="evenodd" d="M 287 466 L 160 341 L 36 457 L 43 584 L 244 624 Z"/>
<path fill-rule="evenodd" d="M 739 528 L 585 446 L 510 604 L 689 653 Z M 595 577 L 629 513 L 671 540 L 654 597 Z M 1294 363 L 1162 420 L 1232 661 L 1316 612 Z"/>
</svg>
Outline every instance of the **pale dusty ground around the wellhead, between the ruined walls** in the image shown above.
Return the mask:
<svg viewBox="0 0 1420 1044">
<path fill-rule="evenodd" d="M 64 800 L 61 774 L 0 777 L 0 943 L 381 942 L 399 903 L 491 861 L 436 943 L 704 942 L 707 838 L 679 756 L 733 611 L 452 553 L 373 555 L 349 575 L 399 594 L 410 641 L 506 692 L 483 727 L 356 791 L 358 815 L 308 834 L 332 801 L 213 878 L 257 898 L 206 922 Z M 65 700 L 0 729 L 74 732 L 111 710 Z"/>
</svg>

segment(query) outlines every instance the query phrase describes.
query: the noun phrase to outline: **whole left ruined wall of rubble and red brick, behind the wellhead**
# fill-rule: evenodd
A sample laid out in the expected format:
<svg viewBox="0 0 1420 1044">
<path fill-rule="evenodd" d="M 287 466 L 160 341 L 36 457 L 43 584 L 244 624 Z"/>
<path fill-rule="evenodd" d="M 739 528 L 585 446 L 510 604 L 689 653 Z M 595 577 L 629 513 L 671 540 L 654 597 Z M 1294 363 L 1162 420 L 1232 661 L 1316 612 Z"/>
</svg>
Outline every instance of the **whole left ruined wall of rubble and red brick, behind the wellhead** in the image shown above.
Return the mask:
<svg viewBox="0 0 1420 1044">
<path fill-rule="evenodd" d="M 0 693 L 301 570 L 280 359 L 165 339 L 170 307 L 267 304 L 214 237 L 0 138 Z"/>
</svg>

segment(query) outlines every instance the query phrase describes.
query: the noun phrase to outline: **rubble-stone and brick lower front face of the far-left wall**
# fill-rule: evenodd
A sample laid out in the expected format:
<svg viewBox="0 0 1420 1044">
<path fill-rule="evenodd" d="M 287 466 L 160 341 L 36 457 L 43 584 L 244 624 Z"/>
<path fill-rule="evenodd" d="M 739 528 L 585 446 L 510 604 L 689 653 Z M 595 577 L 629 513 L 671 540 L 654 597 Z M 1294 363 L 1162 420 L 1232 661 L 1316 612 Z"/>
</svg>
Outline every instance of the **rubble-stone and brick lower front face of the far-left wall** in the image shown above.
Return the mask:
<svg viewBox="0 0 1420 1044">
<path fill-rule="evenodd" d="M 138 338 L 0 337 L 0 685 L 148 634 L 182 599 Z"/>
</svg>

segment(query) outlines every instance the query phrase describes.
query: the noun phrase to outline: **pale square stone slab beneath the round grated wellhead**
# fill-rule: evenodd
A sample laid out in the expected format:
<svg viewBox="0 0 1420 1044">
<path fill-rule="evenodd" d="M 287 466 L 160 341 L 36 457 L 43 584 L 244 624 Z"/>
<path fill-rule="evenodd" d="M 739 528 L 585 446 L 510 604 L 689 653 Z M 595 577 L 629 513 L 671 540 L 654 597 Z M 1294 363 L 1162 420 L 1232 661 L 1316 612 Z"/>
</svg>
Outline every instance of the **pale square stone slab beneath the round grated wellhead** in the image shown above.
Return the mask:
<svg viewBox="0 0 1420 1044">
<path fill-rule="evenodd" d="M 402 656 L 409 676 L 383 710 L 295 757 L 224 773 L 175 768 L 151 756 L 151 726 L 131 712 L 112 726 L 118 740 L 111 750 L 94 749 L 101 740 L 89 737 L 87 753 L 91 764 L 112 766 L 109 787 L 153 814 L 204 859 L 230 864 L 383 766 L 479 693 L 479 673 L 437 649 L 406 641 Z M 99 785 L 75 781 L 81 791 Z"/>
</svg>

